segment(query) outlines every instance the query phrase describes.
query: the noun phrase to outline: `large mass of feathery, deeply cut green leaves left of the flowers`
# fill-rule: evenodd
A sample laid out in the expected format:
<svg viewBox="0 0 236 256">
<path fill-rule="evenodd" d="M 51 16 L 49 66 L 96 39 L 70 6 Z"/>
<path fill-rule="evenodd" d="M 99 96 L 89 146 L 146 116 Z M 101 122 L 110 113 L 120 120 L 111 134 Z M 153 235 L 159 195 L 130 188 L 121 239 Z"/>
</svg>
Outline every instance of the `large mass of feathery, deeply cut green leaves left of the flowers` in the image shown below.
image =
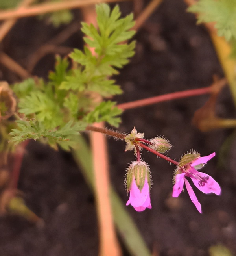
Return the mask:
<svg viewBox="0 0 236 256">
<path fill-rule="evenodd" d="M 122 93 L 108 76 L 117 74 L 117 69 L 134 54 L 135 42 L 123 42 L 135 33 L 130 31 L 133 15 L 120 18 L 119 7 L 111 11 L 107 4 L 96 6 L 96 10 L 98 30 L 83 23 L 89 46 L 70 54 L 72 68 L 68 59 L 57 56 L 55 71 L 49 73 L 48 82 L 30 78 L 13 86 L 19 98 L 21 119 L 11 132 L 15 143 L 40 139 L 53 147 L 57 143 L 69 149 L 73 146 L 71 136 L 85 130 L 88 123 L 105 121 L 118 126 L 122 110 L 115 107 L 116 102 L 103 100 L 98 105 L 96 99 Z M 91 47 L 95 47 L 95 55 L 89 50 Z"/>
</svg>

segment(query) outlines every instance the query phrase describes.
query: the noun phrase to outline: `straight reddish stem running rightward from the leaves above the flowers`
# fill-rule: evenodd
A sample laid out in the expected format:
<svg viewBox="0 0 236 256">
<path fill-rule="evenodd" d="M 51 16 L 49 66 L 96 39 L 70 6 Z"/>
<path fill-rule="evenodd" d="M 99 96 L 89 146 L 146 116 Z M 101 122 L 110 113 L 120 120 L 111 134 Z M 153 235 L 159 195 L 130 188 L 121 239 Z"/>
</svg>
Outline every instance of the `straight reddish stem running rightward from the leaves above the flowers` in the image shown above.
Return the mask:
<svg viewBox="0 0 236 256">
<path fill-rule="evenodd" d="M 159 95 L 151 98 L 118 104 L 117 107 L 125 110 L 125 109 L 148 106 L 148 105 L 156 104 L 156 103 L 167 101 L 167 100 L 175 100 L 179 98 L 187 98 L 187 97 L 193 97 L 197 95 L 210 94 L 211 88 L 212 88 L 211 86 L 208 86 L 200 89 L 192 89 L 192 90 L 186 90 L 186 91 L 179 91 L 175 93 L 167 93 L 164 95 Z"/>
</svg>

